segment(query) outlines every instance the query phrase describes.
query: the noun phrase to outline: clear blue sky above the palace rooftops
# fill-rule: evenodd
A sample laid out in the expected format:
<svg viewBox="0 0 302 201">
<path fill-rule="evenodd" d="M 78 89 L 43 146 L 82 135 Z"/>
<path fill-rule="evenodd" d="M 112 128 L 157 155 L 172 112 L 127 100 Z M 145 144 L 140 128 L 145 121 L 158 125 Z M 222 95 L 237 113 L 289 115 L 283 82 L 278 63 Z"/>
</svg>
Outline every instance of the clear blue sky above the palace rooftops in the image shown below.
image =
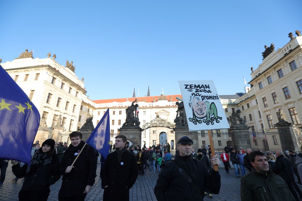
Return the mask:
<svg viewBox="0 0 302 201">
<path fill-rule="evenodd" d="M 243 76 L 302 31 L 302 1 L 0 1 L 0 58 L 73 61 L 92 100 L 179 94 L 178 80 L 244 92 Z M 299 25 L 300 24 L 300 25 Z M 294 34 L 294 36 L 296 36 Z M 248 85 L 249 86 L 249 85 Z M 139 92 L 139 94 L 138 94 Z"/>
</svg>

